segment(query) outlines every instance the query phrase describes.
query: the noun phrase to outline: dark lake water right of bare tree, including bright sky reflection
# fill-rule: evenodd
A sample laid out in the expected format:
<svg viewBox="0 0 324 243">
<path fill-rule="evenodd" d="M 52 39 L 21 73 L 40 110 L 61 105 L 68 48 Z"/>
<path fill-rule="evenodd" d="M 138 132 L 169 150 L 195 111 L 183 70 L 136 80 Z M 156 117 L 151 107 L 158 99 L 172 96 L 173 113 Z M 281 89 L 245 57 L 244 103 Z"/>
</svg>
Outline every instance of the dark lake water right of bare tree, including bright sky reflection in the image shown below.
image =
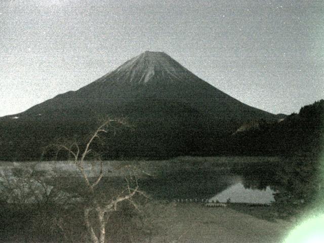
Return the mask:
<svg viewBox="0 0 324 243">
<path fill-rule="evenodd" d="M 174 170 L 141 180 L 141 187 L 159 199 L 269 204 L 274 201 L 278 166 L 276 160 L 175 166 Z"/>
</svg>

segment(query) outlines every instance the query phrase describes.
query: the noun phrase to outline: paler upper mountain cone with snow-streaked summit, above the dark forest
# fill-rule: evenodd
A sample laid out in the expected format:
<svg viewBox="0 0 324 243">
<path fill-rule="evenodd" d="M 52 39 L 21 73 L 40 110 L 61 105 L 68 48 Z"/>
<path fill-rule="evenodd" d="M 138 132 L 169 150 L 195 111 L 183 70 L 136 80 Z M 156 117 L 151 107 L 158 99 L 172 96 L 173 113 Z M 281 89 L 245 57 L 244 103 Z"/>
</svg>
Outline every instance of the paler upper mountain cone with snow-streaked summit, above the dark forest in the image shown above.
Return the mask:
<svg viewBox="0 0 324 243">
<path fill-rule="evenodd" d="M 89 107 L 101 113 L 150 99 L 178 102 L 222 119 L 276 119 L 237 101 L 195 76 L 165 53 L 145 52 L 73 92 L 56 96 L 24 114 Z M 104 106 L 110 106 L 103 108 Z M 98 108 L 97 108 L 98 106 Z"/>
</svg>

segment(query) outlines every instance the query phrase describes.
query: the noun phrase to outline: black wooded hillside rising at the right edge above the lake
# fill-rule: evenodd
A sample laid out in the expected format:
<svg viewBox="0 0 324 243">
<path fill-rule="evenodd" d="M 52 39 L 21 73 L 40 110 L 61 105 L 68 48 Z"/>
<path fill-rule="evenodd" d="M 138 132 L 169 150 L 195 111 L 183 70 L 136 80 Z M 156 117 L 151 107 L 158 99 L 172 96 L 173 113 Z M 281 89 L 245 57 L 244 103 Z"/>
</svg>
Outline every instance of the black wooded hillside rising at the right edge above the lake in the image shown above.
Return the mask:
<svg viewBox="0 0 324 243">
<path fill-rule="evenodd" d="M 232 143 L 242 154 L 316 156 L 323 149 L 323 137 L 324 100 L 320 100 L 278 123 L 259 121 L 257 128 L 237 133 Z"/>
</svg>

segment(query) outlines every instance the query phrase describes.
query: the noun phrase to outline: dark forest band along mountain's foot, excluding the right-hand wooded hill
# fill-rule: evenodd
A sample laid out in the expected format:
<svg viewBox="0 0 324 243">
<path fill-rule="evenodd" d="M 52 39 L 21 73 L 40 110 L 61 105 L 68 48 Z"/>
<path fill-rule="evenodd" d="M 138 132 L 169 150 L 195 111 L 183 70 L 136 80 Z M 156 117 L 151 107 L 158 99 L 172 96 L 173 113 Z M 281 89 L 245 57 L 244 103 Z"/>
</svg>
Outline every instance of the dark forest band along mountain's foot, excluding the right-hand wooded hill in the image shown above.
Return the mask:
<svg viewBox="0 0 324 243">
<path fill-rule="evenodd" d="M 164 110 L 150 107 L 145 108 L 145 112 L 134 110 L 127 117 L 129 126 L 111 128 L 112 133 L 102 137 L 104 140 L 97 143 L 94 150 L 100 151 L 103 159 L 214 154 L 219 150 L 215 144 L 225 144 L 218 141 L 230 135 L 240 124 L 239 121 L 201 116 L 190 109 L 179 112 L 176 104 Z M 69 119 L 64 118 L 64 114 L 60 117 L 49 113 L 37 119 L 30 115 L 0 120 L 0 160 L 53 159 L 51 153 L 43 156 L 44 148 L 49 144 L 76 141 L 81 146 L 85 145 L 101 119 L 95 115 L 80 118 L 76 111 L 73 113 L 74 116 L 66 116 Z"/>
</svg>

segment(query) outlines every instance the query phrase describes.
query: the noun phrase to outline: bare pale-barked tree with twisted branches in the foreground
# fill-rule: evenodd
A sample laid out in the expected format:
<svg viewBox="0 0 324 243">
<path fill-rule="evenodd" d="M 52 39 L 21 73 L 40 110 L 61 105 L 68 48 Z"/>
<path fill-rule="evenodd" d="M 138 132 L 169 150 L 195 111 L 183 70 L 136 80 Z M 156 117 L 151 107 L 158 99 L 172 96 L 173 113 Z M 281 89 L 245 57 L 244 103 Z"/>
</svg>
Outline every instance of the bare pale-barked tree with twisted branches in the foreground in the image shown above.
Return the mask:
<svg viewBox="0 0 324 243">
<path fill-rule="evenodd" d="M 139 190 L 137 183 L 136 174 L 132 174 L 130 179 L 126 178 L 126 188 L 121 190 L 117 196 L 112 196 L 108 198 L 102 198 L 96 193 L 98 184 L 104 177 L 103 161 L 100 157 L 96 158 L 96 162 L 99 164 L 100 171 L 95 177 L 90 177 L 89 172 L 86 170 L 85 159 L 89 153 L 95 154 L 91 149 L 91 145 L 95 140 L 100 140 L 100 135 L 107 134 L 109 131 L 115 133 L 114 124 L 126 126 L 127 123 L 124 119 L 107 119 L 104 123 L 98 127 L 98 129 L 89 137 L 85 147 L 82 149 L 76 143 L 70 143 L 69 145 L 64 144 L 52 144 L 49 147 L 56 148 L 57 152 L 60 150 L 65 150 L 69 157 L 72 158 L 73 164 L 76 169 L 82 175 L 83 181 L 85 182 L 85 189 L 88 201 L 84 208 L 84 220 L 87 227 L 90 239 L 93 243 L 104 243 L 106 241 L 106 224 L 109 219 L 109 214 L 113 211 L 117 211 L 117 206 L 122 201 L 129 201 L 135 209 L 138 209 L 136 203 L 133 201 L 133 196 L 135 194 L 145 193 Z M 131 184 L 134 184 L 133 187 Z M 90 217 L 90 215 L 95 215 L 96 221 Z M 99 227 L 99 229 L 96 228 Z"/>
</svg>

